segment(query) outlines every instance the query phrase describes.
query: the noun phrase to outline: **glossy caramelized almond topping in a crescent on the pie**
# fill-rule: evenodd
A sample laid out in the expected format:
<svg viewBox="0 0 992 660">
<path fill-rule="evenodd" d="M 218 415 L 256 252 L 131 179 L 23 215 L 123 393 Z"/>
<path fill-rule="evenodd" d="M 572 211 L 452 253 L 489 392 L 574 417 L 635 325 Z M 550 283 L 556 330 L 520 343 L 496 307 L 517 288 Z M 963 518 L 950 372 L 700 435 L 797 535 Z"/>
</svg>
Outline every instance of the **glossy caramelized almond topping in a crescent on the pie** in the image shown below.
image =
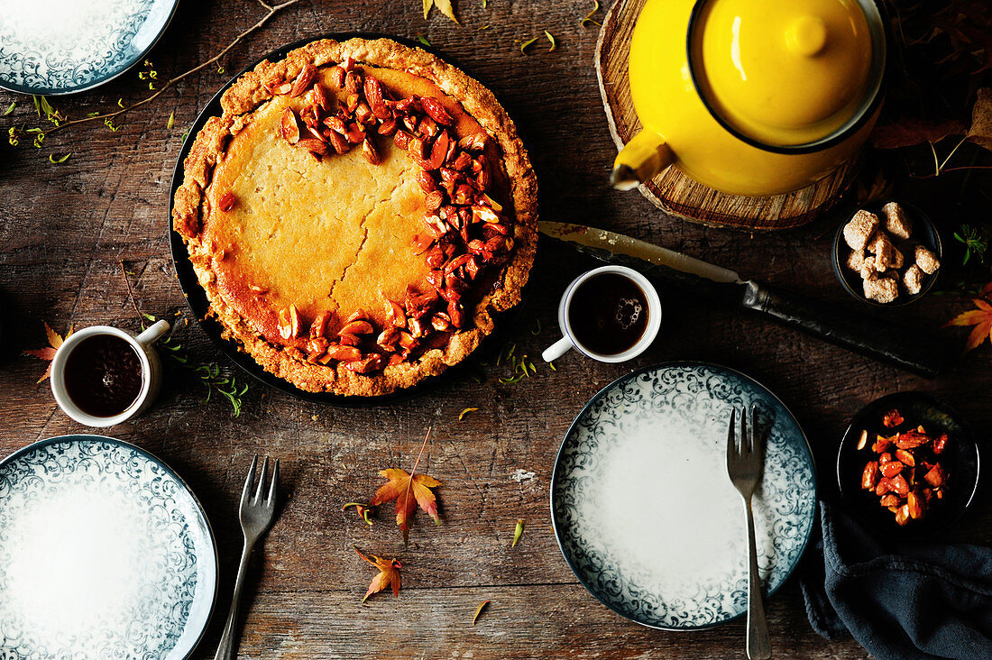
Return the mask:
<svg viewBox="0 0 992 660">
<path fill-rule="evenodd" d="M 293 96 L 310 90 L 299 115 L 293 108 L 284 110 L 279 133 L 317 160 L 360 145 L 362 156 L 379 165 L 382 157 L 371 137 L 378 134 L 392 136 L 394 144 L 421 168 L 417 183 L 425 196 L 427 232 L 414 237 L 412 249 L 424 254 L 432 269 L 426 278 L 430 290 L 410 289 L 403 303 L 384 297 L 385 328 L 377 329 L 363 310 L 357 310 L 344 322 L 336 341 L 328 343 L 331 313 L 317 315 L 310 325 L 308 361 L 336 362 L 364 374 L 415 359 L 421 338 L 432 332 L 465 328 L 468 320 L 460 299 L 469 281 L 494 262 L 497 254 L 512 249 L 513 241 L 503 206 L 489 195 L 491 178 L 482 152 L 490 137 L 480 131 L 459 138 L 454 119 L 439 99 L 414 95 L 394 100 L 377 78 L 363 74 L 355 65 L 348 58 L 329 67 L 327 79 L 342 90 L 336 104 L 310 64 L 292 82 L 271 80 L 265 86 L 273 93 Z M 218 200 L 218 207 L 227 211 L 235 202 L 227 193 Z M 279 331 L 284 338 L 299 336 L 295 306 L 280 312 Z"/>
</svg>

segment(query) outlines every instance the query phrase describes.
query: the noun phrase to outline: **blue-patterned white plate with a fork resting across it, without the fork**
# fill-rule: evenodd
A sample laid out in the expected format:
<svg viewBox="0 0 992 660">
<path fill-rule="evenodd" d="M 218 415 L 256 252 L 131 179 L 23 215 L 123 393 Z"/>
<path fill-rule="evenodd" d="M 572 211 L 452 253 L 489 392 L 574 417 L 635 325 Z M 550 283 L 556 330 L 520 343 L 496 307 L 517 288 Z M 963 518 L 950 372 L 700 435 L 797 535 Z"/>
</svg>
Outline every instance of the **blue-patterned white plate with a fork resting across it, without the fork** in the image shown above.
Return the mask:
<svg viewBox="0 0 992 660">
<path fill-rule="evenodd" d="M 754 499 L 766 593 L 799 563 L 816 482 L 796 418 L 733 369 L 650 366 L 592 398 L 565 434 L 552 476 L 561 552 L 579 582 L 617 613 L 654 628 L 691 630 L 746 610 L 744 508 L 726 468 L 735 405 L 755 406 L 768 438 Z"/>
</svg>

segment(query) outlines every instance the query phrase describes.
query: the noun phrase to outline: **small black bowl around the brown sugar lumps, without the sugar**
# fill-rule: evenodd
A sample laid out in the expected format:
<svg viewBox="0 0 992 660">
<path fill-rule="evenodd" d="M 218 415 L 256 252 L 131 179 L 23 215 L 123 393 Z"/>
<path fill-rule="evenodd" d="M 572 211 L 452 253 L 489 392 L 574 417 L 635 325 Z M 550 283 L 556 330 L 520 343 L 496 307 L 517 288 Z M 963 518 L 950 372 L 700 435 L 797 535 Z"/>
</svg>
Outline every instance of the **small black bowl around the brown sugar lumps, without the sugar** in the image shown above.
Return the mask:
<svg viewBox="0 0 992 660">
<path fill-rule="evenodd" d="M 884 206 L 889 201 L 898 201 L 896 199 L 882 199 L 879 201 L 871 201 L 858 208 L 863 208 L 867 211 L 875 213 L 880 218 L 882 217 L 882 206 Z M 898 201 L 899 205 L 903 207 L 906 211 L 907 217 L 913 222 L 913 231 L 910 234 L 909 240 L 903 241 L 898 238 L 894 239 L 896 242 L 896 247 L 905 247 L 905 245 L 912 245 L 919 243 L 930 249 L 936 258 L 943 261 L 943 247 L 940 243 L 940 234 L 937 233 L 936 227 L 933 226 L 933 221 L 930 220 L 930 216 L 927 215 L 919 206 L 908 203 L 906 201 Z M 857 209 L 855 209 L 857 210 Z M 851 215 L 854 211 L 851 212 Z M 902 283 L 900 283 L 899 298 L 891 303 L 879 303 L 873 301 L 870 298 L 865 298 L 864 295 L 864 285 L 861 281 L 861 275 L 856 273 L 849 268 L 847 268 L 847 255 L 850 254 L 851 248 L 847 246 L 844 241 L 844 225 L 851 219 L 851 215 L 846 215 L 843 221 L 837 226 L 837 231 L 833 234 L 833 245 L 831 247 L 830 261 L 833 266 L 833 274 L 837 276 L 837 280 L 840 281 L 840 285 L 844 288 L 844 291 L 849 293 L 854 298 L 857 298 L 862 303 L 871 305 L 872 307 L 905 307 L 906 305 L 911 305 L 917 302 L 921 298 L 927 295 L 930 289 L 933 287 L 933 283 L 936 282 L 936 278 L 940 275 L 940 270 L 937 269 L 932 275 L 924 274 L 923 285 L 920 288 L 920 293 L 910 295 L 906 293 L 903 289 Z M 906 258 L 906 263 L 909 265 L 913 262 L 913 259 L 908 254 L 909 250 L 901 249 L 903 256 Z"/>
</svg>

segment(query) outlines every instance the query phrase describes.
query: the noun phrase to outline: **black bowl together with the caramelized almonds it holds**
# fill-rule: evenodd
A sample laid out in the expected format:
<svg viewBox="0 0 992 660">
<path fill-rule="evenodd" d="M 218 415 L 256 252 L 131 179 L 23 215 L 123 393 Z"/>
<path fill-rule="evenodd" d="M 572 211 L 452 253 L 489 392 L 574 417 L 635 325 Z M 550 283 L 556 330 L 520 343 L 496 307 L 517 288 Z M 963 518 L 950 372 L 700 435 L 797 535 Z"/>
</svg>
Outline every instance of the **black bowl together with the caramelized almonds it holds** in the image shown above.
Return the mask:
<svg viewBox="0 0 992 660">
<path fill-rule="evenodd" d="M 861 410 L 837 454 L 837 483 L 870 530 L 924 537 L 956 522 L 978 487 L 978 446 L 943 402 L 901 392 Z"/>
</svg>

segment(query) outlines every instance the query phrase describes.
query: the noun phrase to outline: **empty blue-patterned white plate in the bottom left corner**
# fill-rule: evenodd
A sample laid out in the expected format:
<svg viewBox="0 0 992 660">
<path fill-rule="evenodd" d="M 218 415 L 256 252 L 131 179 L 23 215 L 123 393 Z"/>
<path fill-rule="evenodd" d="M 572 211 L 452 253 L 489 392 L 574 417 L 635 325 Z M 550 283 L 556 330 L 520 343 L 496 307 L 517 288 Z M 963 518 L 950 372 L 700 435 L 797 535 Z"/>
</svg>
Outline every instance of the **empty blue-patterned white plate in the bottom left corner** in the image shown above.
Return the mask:
<svg viewBox="0 0 992 660">
<path fill-rule="evenodd" d="M 0 462 L 0 658 L 187 658 L 213 607 L 202 507 L 165 463 L 102 436 Z"/>
</svg>

